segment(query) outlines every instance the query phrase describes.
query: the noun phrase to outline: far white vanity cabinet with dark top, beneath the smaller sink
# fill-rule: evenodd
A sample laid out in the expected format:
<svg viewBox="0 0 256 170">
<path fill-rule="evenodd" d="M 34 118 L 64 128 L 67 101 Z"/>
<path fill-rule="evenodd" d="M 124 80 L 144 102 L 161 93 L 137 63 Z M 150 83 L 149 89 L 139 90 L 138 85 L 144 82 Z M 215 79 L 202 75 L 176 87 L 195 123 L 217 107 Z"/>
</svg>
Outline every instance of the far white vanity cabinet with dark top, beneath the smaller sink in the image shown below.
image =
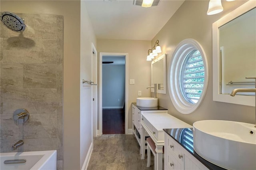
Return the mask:
<svg viewBox="0 0 256 170">
<path fill-rule="evenodd" d="M 141 144 L 141 132 L 142 132 L 142 125 L 141 125 L 141 115 L 144 113 L 168 113 L 168 110 L 163 107 L 137 107 L 136 103 L 132 104 L 132 130 L 133 133 L 138 140 L 139 145 Z M 146 133 L 145 136 L 149 136 Z M 144 139 L 145 140 L 145 139 Z M 140 149 L 140 153 L 142 153 L 142 149 Z"/>
</svg>

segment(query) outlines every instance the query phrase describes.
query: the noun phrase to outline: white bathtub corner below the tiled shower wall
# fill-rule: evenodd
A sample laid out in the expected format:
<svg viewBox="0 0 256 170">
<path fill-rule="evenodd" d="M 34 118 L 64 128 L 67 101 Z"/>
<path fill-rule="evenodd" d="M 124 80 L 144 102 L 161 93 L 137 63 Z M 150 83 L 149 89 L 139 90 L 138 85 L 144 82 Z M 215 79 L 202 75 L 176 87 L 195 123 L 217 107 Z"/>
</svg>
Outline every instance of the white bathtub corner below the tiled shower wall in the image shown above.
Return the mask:
<svg viewBox="0 0 256 170">
<path fill-rule="evenodd" d="M 4 164 L 5 160 L 25 159 L 26 163 Z M 56 170 L 57 151 L 0 153 L 0 170 Z"/>
</svg>

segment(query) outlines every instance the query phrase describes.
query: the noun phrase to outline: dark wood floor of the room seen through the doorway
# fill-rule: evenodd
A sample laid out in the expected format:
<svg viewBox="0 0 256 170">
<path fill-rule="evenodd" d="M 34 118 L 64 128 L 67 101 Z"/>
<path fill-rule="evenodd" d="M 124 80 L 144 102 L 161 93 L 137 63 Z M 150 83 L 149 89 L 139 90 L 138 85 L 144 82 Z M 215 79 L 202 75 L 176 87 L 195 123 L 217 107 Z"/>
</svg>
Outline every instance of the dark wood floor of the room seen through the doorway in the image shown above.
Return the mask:
<svg viewBox="0 0 256 170">
<path fill-rule="evenodd" d="M 124 120 L 123 109 L 102 109 L 102 134 L 124 134 Z"/>
</svg>

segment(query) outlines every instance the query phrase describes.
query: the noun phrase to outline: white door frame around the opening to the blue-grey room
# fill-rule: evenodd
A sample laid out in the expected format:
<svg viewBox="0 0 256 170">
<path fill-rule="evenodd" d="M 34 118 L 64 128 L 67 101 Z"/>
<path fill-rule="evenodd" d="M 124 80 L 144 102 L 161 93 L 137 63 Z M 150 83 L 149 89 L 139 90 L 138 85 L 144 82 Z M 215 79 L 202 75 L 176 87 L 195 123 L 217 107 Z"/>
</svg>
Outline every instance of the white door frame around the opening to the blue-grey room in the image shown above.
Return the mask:
<svg viewBox="0 0 256 170">
<path fill-rule="evenodd" d="M 106 53 L 100 52 L 99 57 L 99 134 L 102 135 L 102 56 L 125 56 L 125 134 L 128 134 L 128 53 Z"/>
</svg>

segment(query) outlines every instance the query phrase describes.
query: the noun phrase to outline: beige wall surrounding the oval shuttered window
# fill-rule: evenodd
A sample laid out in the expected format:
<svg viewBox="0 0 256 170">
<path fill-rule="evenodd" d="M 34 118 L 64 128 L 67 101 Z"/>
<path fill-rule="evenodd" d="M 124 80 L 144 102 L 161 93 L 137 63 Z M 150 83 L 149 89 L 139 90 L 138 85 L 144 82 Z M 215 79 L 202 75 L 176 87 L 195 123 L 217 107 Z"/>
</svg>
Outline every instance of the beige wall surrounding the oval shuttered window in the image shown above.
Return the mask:
<svg viewBox="0 0 256 170">
<path fill-rule="evenodd" d="M 179 113 L 169 97 L 167 88 L 166 95 L 158 94 L 159 105 L 168 109 L 169 114 L 192 125 L 195 121 L 206 119 L 240 121 L 254 123 L 254 107 L 221 103 L 212 100 L 212 23 L 228 14 L 246 1 L 222 1 L 224 11 L 220 14 L 208 16 L 206 14 L 209 1 L 186 0 L 166 25 L 152 40 L 152 45 L 159 40 L 162 53 L 166 53 L 167 68 L 175 47 L 186 38 L 197 40 L 206 53 L 209 65 L 209 82 L 206 95 L 202 104 L 191 114 Z M 146 61 L 144 64 L 147 64 Z M 168 74 L 167 74 L 168 75 Z M 144 75 L 139 75 L 143 77 Z M 168 79 L 168 77 L 166 77 Z"/>
</svg>

